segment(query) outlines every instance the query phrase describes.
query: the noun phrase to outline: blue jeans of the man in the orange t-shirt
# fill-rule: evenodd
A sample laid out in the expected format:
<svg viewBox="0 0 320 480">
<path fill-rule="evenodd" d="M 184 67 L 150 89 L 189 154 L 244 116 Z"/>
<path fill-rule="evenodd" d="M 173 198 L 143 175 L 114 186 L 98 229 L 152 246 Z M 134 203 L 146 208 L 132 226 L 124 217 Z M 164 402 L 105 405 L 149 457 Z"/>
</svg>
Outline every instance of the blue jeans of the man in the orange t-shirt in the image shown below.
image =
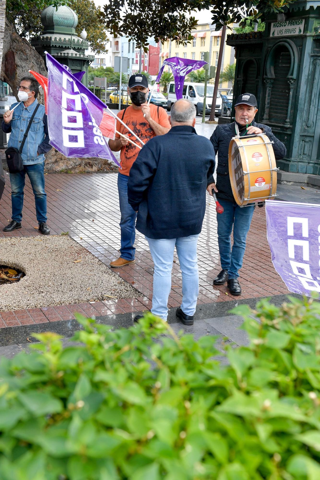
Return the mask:
<svg viewBox="0 0 320 480">
<path fill-rule="evenodd" d="M 136 218 L 137 214 L 128 203 L 128 180 L 127 175 L 118 173 L 118 192 L 119 205 L 121 212 L 120 230 L 121 230 L 121 248 L 120 257 L 125 260 L 134 260 L 134 240 L 136 238 Z"/>
</svg>

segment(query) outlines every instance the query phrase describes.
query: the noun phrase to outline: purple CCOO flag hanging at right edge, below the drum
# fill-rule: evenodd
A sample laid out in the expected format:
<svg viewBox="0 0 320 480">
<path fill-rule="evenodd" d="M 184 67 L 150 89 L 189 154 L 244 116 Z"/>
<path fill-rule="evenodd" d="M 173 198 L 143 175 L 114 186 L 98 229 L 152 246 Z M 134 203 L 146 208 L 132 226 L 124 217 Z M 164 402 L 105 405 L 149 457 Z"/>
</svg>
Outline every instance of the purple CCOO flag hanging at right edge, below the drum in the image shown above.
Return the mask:
<svg viewBox="0 0 320 480">
<path fill-rule="evenodd" d="M 266 200 L 267 238 L 288 290 L 320 292 L 320 205 Z"/>
</svg>

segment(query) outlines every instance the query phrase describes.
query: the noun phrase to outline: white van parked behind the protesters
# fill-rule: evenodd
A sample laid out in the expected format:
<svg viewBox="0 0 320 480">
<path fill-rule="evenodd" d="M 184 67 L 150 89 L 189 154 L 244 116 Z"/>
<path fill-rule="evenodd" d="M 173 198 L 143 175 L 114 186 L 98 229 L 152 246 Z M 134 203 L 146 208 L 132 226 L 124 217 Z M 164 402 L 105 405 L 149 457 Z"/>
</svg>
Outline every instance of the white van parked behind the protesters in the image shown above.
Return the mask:
<svg viewBox="0 0 320 480">
<path fill-rule="evenodd" d="M 213 87 L 212 84 L 207 84 L 207 96 L 206 96 L 206 107 L 205 107 L 205 114 L 210 115 L 211 112 L 211 105 L 212 105 L 212 97 L 213 97 Z M 183 85 L 182 91 L 182 98 L 188 98 L 192 103 L 194 103 L 197 115 L 201 114 L 203 111 L 203 97 L 204 97 L 204 84 L 195 84 L 193 82 L 186 82 Z M 169 90 L 168 90 L 168 105 L 167 111 L 171 110 L 171 105 L 177 100 L 175 94 L 175 83 L 169 83 Z M 217 92 L 217 100 L 215 104 L 215 116 L 221 115 L 222 111 L 222 98 L 219 92 Z"/>
</svg>

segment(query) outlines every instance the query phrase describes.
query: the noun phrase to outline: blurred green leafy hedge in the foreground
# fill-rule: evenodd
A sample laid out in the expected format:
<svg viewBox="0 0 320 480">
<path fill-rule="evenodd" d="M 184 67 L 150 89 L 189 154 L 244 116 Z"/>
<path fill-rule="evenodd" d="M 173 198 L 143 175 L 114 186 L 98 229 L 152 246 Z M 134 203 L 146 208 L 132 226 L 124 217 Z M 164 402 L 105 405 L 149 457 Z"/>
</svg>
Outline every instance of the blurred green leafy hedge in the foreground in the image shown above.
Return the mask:
<svg viewBox="0 0 320 480">
<path fill-rule="evenodd" d="M 320 304 L 233 312 L 224 354 L 151 314 L 35 335 L 0 363 L 0 479 L 319 480 Z"/>
</svg>

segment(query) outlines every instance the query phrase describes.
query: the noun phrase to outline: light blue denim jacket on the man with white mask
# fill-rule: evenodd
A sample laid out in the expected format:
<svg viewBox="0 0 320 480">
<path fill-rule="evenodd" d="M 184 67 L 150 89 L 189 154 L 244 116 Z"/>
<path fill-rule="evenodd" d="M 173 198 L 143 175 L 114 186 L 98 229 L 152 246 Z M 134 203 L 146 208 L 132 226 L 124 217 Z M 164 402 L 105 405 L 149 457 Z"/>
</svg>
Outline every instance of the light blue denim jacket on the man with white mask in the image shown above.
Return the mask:
<svg viewBox="0 0 320 480">
<path fill-rule="evenodd" d="M 24 103 L 21 102 L 21 104 L 13 110 L 11 122 L 2 122 L 3 132 L 11 132 L 8 147 L 20 148 L 21 142 L 24 138 L 24 132 L 27 129 L 29 120 L 37 104 L 37 99 L 29 105 L 29 107 L 25 107 Z M 17 105 L 17 102 L 13 103 L 10 109 L 15 105 Z M 52 148 L 49 144 L 49 140 L 45 107 L 40 105 L 36 111 L 34 119 L 32 120 L 28 136 L 24 143 L 24 148 L 21 154 L 23 164 L 33 165 L 44 162 L 44 154 Z M 39 154 L 38 156 L 37 153 Z"/>
</svg>

